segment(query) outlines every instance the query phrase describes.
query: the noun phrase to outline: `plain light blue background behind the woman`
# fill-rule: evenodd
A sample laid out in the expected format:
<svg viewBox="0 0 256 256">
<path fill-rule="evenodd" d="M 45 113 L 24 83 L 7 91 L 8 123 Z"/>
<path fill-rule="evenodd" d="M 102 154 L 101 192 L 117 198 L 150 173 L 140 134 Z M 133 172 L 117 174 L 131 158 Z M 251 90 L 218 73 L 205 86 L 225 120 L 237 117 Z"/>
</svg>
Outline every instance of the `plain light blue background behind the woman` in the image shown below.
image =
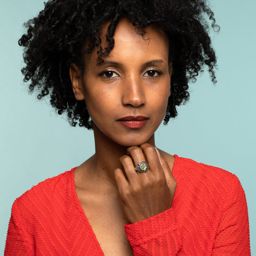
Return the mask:
<svg viewBox="0 0 256 256">
<path fill-rule="evenodd" d="M 191 85 L 179 116 L 156 131 L 157 147 L 170 154 L 235 173 L 247 198 L 251 249 L 256 255 L 255 220 L 255 1 L 213 0 L 221 31 L 214 36 L 219 70 L 213 86 L 205 72 Z M 1 0 L 1 219 L 0 251 L 11 206 L 32 185 L 71 169 L 94 153 L 93 134 L 71 128 L 22 84 L 21 24 L 43 8 L 40 0 Z"/>
</svg>

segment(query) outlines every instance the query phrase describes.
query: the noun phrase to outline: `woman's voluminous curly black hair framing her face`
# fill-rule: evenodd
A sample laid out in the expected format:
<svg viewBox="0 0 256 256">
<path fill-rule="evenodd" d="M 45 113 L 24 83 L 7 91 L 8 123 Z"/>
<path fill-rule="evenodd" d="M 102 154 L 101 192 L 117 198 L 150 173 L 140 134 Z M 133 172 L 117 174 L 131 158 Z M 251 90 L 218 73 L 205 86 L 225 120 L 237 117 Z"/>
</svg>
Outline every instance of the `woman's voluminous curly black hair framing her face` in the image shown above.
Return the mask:
<svg viewBox="0 0 256 256">
<path fill-rule="evenodd" d="M 84 70 L 85 54 L 95 46 L 98 60 L 103 61 L 114 47 L 113 36 L 122 18 L 142 36 L 145 28 L 154 24 L 169 39 L 172 79 L 164 124 L 177 116 L 176 106 L 188 100 L 188 82 L 196 81 L 204 65 L 216 83 L 216 56 L 209 30 L 212 27 L 218 31 L 219 26 L 204 0 L 52 0 L 44 5 L 37 17 L 24 23 L 27 33 L 21 36 L 19 45 L 24 47 L 26 67 L 21 72 L 24 81 L 30 81 L 30 92 L 36 91 L 39 100 L 49 94 L 53 108 L 59 115 L 66 112 L 72 126 L 79 123 L 92 129 L 84 100 L 74 97 L 70 64 Z M 110 22 L 108 45 L 102 48 L 101 30 L 106 22 Z"/>
</svg>

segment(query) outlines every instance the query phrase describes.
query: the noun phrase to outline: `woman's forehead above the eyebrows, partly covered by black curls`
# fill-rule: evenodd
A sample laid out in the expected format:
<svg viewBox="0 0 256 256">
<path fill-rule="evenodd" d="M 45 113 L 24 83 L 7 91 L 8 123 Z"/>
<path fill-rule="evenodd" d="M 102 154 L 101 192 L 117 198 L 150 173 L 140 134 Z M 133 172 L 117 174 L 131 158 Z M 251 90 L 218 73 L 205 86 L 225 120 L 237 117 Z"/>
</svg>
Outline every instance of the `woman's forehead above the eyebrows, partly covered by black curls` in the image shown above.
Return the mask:
<svg viewBox="0 0 256 256">
<path fill-rule="evenodd" d="M 106 40 L 108 24 L 102 29 L 101 46 L 104 49 L 108 46 Z M 114 48 L 110 54 L 103 60 L 113 60 L 127 62 L 138 62 L 141 59 L 164 59 L 168 61 L 169 43 L 167 36 L 162 29 L 155 26 L 149 26 L 144 29 L 146 32 L 143 37 L 138 34 L 136 28 L 127 19 L 122 19 L 116 26 L 114 38 Z M 95 47 L 87 61 L 92 60 L 94 63 L 98 59 L 98 49 Z M 88 62 L 87 62 L 88 63 Z"/>
</svg>

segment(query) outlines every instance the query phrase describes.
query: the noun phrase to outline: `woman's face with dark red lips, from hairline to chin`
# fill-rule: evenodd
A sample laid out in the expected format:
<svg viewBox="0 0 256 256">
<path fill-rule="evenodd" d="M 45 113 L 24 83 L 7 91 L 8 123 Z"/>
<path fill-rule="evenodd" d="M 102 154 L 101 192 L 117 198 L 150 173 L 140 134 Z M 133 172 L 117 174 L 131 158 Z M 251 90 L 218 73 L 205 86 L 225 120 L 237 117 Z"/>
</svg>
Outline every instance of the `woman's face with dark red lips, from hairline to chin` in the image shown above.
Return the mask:
<svg viewBox="0 0 256 256">
<path fill-rule="evenodd" d="M 110 55 L 98 64 L 95 47 L 79 78 L 81 92 L 74 89 L 76 98 L 86 102 L 94 133 L 123 146 L 141 145 L 152 137 L 171 94 L 167 38 L 152 26 L 145 31 L 149 40 L 143 40 L 128 20 L 121 20 Z"/>
</svg>

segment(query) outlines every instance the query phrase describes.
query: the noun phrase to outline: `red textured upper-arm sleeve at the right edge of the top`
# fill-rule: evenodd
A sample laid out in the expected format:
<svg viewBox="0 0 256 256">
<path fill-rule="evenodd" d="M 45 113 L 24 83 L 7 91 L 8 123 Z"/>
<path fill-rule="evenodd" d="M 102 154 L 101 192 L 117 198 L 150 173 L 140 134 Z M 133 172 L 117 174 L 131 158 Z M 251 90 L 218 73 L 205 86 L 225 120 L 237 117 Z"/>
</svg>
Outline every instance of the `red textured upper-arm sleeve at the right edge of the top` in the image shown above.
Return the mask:
<svg viewBox="0 0 256 256">
<path fill-rule="evenodd" d="M 233 175 L 233 185 L 219 223 L 212 248 L 212 256 L 217 255 L 243 255 L 249 256 L 249 220 L 244 190 Z"/>
</svg>

